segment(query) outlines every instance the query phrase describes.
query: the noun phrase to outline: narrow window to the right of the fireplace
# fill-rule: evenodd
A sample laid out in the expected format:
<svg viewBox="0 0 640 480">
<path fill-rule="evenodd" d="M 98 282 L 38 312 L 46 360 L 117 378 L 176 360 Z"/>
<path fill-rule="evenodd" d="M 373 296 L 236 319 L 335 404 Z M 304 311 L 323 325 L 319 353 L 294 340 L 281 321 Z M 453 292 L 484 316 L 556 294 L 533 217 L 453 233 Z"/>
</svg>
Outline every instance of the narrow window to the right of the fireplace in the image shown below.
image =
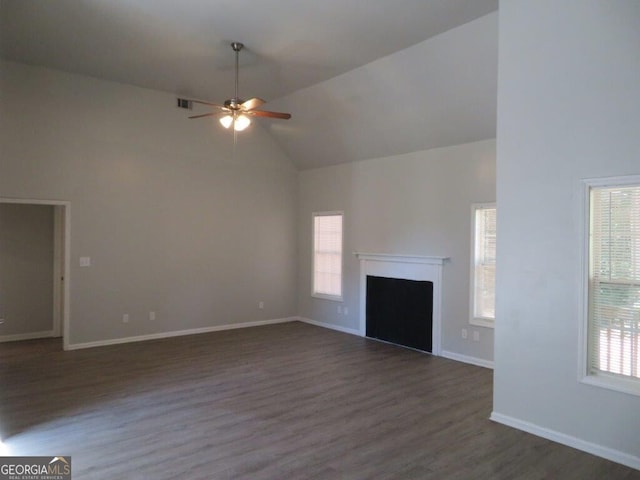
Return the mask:
<svg viewBox="0 0 640 480">
<path fill-rule="evenodd" d="M 496 205 L 471 206 L 471 319 L 473 325 L 493 327 L 496 309 Z"/>
</svg>

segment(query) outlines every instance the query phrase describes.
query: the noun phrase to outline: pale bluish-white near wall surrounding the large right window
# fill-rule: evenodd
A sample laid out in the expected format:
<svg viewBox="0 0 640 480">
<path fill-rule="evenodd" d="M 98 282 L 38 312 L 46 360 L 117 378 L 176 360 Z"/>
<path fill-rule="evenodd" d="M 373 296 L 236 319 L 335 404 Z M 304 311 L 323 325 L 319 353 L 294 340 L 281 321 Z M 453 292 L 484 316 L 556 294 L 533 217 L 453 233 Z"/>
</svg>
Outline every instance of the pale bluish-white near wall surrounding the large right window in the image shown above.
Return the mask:
<svg viewBox="0 0 640 480">
<path fill-rule="evenodd" d="M 578 382 L 580 180 L 640 173 L 640 2 L 500 5 L 494 417 L 640 468 L 640 398 Z"/>
</svg>

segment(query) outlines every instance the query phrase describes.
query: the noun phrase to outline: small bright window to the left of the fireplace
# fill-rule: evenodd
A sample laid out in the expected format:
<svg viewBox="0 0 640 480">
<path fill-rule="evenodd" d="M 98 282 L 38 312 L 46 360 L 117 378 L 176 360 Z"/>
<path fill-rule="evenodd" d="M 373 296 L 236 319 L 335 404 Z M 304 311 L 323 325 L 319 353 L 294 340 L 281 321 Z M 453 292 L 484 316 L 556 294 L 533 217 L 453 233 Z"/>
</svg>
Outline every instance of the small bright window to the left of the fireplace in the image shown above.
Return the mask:
<svg viewBox="0 0 640 480">
<path fill-rule="evenodd" d="M 313 214 L 312 295 L 342 300 L 342 213 Z"/>
</svg>

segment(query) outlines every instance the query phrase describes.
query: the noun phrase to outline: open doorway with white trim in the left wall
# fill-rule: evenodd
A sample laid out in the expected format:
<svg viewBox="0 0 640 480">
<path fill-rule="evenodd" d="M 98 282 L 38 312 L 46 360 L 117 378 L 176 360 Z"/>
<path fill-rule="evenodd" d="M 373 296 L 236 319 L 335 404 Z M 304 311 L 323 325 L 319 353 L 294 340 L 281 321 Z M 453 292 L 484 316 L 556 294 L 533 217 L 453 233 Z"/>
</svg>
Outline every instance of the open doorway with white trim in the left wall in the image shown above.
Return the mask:
<svg viewBox="0 0 640 480">
<path fill-rule="evenodd" d="M 0 198 L 0 342 L 68 345 L 70 203 Z"/>
</svg>

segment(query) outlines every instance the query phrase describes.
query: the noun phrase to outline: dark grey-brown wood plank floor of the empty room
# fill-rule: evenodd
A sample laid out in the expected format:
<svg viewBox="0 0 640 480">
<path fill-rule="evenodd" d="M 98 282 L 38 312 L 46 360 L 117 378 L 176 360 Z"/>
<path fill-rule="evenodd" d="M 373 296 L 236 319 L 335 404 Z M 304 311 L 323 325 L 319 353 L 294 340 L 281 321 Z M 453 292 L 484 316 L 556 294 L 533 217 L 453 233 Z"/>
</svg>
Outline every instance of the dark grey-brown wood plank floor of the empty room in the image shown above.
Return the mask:
<svg viewBox="0 0 640 480">
<path fill-rule="evenodd" d="M 488 420 L 492 372 L 302 323 L 0 345 L 12 455 L 79 479 L 640 479 Z"/>
</svg>

